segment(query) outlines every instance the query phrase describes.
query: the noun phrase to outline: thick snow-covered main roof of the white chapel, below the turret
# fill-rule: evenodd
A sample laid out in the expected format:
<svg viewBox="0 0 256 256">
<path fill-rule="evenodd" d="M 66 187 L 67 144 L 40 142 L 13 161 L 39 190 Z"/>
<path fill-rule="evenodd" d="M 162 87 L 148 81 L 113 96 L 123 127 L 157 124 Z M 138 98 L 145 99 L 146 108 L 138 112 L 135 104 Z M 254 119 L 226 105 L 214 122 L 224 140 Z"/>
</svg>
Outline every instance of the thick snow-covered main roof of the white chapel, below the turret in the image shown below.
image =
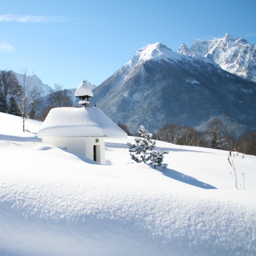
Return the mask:
<svg viewBox="0 0 256 256">
<path fill-rule="evenodd" d="M 98 136 L 127 138 L 100 108 L 53 108 L 43 122 L 38 137 Z"/>
</svg>

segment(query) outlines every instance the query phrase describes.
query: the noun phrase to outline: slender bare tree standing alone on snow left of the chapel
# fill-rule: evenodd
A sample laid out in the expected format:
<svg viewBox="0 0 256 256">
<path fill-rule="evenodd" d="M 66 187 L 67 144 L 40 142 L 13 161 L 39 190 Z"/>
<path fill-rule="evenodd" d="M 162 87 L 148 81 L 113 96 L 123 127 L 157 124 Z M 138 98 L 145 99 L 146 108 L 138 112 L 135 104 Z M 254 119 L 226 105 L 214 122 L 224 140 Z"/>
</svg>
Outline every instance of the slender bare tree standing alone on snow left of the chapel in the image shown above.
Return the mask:
<svg viewBox="0 0 256 256">
<path fill-rule="evenodd" d="M 25 132 L 25 121 L 30 111 L 34 108 L 34 102 L 39 101 L 41 90 L 35 84 L 33 76 L 28 74 L 26 67 L 21 68 L 21 71 L 17 74 L 17 80 L 20 86 L 17 104 L 23 120 L 23 132 Z"/>
</svg>

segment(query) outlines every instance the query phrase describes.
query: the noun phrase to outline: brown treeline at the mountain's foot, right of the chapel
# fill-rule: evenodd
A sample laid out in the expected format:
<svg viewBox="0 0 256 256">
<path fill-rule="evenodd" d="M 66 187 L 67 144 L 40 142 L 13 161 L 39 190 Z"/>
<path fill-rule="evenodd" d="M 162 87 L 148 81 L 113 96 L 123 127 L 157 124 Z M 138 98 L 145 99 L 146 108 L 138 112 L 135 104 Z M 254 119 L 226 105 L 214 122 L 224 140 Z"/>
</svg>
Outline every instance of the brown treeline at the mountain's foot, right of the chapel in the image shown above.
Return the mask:
<svg viewBox="0 0 256 256">
<path fill-rule="evenodd" d="M 119 124 L 119 126 L 128 135 L 133 135 L 125 124 Z M 211 119 L 203 132 L 193 127 L 167 124 L 157 131 L 153 138 L 177 145 L 216 148 L 256 155 L 256 131 L 247 131 L 236 139 L 229 134 L 228 128 L 219 118 Z"/>
</svg>

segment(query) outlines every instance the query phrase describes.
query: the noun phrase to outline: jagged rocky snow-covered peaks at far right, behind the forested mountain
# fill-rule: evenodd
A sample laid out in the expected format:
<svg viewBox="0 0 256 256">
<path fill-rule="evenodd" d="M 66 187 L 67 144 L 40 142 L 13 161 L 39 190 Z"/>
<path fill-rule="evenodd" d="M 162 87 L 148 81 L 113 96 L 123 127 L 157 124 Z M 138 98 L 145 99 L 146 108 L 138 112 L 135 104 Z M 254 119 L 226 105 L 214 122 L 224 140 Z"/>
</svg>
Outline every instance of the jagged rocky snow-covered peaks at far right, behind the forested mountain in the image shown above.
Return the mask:
<svg viewBox="0 0 256 256">
<path fill-rule="evenodd" d="M 189 48 L 183 43 L 178 53 L 204 56 L 232 74 L 256 81 L 256 46 L 243 38 L 226 34 L 209 41 L 195 40 Z"/>
</svg>

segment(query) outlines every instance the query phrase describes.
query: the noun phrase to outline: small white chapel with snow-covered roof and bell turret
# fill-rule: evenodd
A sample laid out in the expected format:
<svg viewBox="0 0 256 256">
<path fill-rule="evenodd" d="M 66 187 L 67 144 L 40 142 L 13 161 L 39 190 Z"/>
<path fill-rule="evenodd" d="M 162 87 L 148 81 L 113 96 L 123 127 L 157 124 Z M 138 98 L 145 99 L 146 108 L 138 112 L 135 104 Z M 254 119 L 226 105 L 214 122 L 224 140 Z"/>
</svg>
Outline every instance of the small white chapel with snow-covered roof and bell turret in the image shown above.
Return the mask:
<svg viewBox="0 0 256 256">
<path fill-rule="evenodd" d="M 74 95 L 82 108 L 51 109 L 37 135 L 43 144 L 67 148 L 105 164 L 105 137 L 127 138 L 127 133 L 100 108 L 88 107 L 93 92 L 84 81 Z"/>
</svg>

